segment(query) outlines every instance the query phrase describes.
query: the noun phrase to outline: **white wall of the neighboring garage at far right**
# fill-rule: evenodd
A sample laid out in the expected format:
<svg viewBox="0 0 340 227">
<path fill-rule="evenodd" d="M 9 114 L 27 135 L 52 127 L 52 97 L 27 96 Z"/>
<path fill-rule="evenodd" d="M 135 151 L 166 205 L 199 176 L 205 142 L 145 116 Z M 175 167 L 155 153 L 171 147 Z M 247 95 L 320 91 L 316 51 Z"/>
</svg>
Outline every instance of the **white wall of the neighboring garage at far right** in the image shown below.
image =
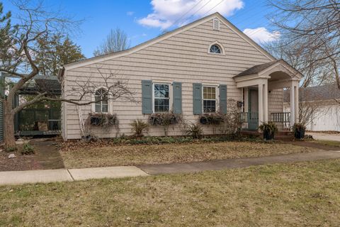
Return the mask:
<svg viewBox="0 0 340 227">
<path fill-rule="evenodd" d="M 328 103 L 328 101 L 325 101 Z M 289 103 L 284 104 L 284 109 L 290 111 Z M 340 106 L 339 104 L 326 104 L 318 106 L 310 122 L 307 123 L 308 131 L 340 131 Z"/>
</svg>

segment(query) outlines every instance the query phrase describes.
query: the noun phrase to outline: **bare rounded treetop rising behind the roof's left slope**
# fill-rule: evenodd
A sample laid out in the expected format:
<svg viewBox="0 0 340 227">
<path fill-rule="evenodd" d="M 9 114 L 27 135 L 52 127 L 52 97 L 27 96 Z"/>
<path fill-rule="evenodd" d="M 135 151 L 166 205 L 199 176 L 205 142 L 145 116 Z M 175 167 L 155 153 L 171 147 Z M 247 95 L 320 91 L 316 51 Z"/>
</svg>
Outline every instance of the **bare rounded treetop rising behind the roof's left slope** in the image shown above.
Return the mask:
<svg viewBox="0 0 340 227">
<path fill-rule="evenodd" d="M 120 28 L 111 29 L 106 40 L 94 51 L 94 56 L 107 55 L 111 52 L 118 52 L 128 48 L 130 48 L 128 35 Z"/>
</svg>

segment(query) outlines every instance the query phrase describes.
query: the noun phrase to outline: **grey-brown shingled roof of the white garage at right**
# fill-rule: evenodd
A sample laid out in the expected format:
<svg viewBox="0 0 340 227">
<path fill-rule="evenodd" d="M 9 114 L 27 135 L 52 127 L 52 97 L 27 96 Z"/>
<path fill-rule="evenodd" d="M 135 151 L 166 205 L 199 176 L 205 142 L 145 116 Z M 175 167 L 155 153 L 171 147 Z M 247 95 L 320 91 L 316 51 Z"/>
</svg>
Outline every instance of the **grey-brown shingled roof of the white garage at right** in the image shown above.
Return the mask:
<svg viewBox="0 0 340 227">
<path fill-rule="evenodd" d="M 299 89 L 300 101 L 321 101 L 329 99 L 340 99 L 340 89 L 337 84 L 325 84 L 315 87 L 301 87 Z M 283 102 L 290 101 L 290 91 L 283 92 Z"/>
</svg>

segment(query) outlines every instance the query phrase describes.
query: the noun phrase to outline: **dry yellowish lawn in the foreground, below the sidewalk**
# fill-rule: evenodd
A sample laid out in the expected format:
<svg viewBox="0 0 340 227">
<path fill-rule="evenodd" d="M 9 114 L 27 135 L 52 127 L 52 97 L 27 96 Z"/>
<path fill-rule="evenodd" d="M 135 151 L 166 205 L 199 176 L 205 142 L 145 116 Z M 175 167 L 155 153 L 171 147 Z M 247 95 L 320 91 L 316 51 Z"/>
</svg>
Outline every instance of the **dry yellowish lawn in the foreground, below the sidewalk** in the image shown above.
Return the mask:
<svg viewBox="0 0 340 227">
<path fill-rule="evenodd" d="M 340 226 L 340 160 L 0 187 L 0 226 Z"/>
</svg>

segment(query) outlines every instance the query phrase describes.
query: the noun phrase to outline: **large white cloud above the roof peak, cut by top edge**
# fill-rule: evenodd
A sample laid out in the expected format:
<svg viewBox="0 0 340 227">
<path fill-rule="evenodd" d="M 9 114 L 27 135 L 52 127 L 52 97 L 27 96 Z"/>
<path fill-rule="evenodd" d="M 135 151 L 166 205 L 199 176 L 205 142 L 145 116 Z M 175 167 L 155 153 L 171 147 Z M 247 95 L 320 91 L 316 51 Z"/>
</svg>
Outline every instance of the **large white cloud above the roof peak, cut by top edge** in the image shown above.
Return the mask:
<svg viewBox="0 0 340 227">
<path fill-rule="evenodd" d="M 244 7 L 243 0 L 152 0 L 151 4 L 152 13 L 137 22 L 163 30 L 171 26 L 181 26 L 215 12 L 230 16 Z"/>
</svg>

